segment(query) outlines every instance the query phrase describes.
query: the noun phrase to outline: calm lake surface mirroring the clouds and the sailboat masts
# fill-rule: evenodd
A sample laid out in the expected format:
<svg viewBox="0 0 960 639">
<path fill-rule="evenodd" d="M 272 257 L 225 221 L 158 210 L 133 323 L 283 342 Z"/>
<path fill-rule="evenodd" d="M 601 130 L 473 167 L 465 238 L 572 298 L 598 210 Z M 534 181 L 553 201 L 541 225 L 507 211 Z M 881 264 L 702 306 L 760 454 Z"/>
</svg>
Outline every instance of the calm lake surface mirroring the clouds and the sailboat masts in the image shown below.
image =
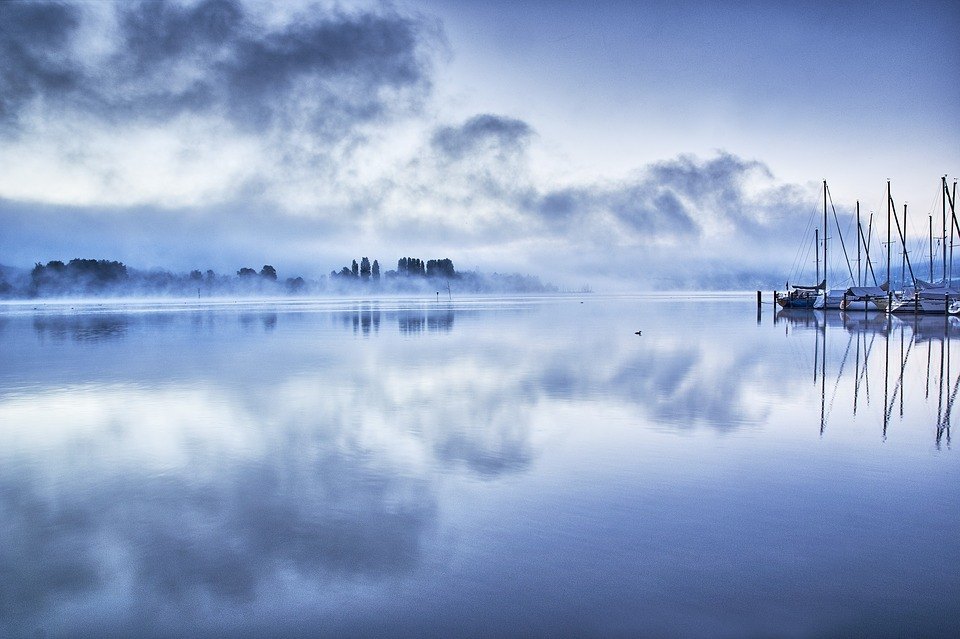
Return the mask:
<svg viewBox="0 0 960 639">
<path fill-rule="evenodd" d="M 0 636 L 958 636 L 958 337 L 722 295 L 8 304 Z"/>
</svg>

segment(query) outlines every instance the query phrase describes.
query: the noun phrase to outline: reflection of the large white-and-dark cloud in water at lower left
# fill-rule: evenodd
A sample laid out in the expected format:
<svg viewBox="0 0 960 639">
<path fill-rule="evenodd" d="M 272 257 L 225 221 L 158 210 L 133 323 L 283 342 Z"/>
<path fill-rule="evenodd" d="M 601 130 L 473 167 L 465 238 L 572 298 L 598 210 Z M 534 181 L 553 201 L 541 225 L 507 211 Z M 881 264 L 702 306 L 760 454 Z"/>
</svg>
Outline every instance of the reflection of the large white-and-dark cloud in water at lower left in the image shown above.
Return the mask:
<svg viewBox="0 0 960 639">
<path fill-rule="evenodd" d="M 245 605 L 291 578 L 415 567 L 435 527 L 429 476 L 335 405 L 251 412 L 263 399 L 95 387 L 5 402 L 20 425 L 0 469 L 8 629 L 106 598 L 150 634 L 151 615 L 199 621 L 200 602 Z"/>
</svg>

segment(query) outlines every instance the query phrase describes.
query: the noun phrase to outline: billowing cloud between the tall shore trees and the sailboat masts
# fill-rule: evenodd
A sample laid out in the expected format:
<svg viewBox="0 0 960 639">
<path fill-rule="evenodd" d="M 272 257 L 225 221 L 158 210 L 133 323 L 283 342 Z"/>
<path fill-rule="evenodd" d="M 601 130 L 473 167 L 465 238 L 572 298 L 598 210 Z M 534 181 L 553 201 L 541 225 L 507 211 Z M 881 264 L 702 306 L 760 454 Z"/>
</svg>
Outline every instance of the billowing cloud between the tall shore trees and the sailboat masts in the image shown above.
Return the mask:
<svg viewBox="0 0 960 639">
<path fill-rule="evenodd" d="M 394 237 L 415 228 L 424 244 L 604 288 L 752 288 L 806 237 L 815 191 L 758 160 L 680 155 L 619 180 L 544 179 L 527 153 L 532 126 L 504 120 L 440 127 L 398 170 L 383 201 Z"/>
</svg>

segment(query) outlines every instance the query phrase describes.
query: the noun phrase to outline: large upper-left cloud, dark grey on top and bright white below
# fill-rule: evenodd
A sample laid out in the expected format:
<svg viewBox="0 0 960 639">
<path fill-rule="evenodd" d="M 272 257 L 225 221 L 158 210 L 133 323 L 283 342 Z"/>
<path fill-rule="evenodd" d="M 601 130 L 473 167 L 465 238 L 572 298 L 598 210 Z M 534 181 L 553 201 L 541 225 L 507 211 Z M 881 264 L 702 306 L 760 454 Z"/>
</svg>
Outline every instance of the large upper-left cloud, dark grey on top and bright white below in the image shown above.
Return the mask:
<svg viewBox="0 0 960 639">
<path fill-rule="evenodd" d="M 383 6 L 0 11 L 0 197 L 26 202 L 354 208 L 358 153 L 420 112 L 445 46 Z"/>
</svg>

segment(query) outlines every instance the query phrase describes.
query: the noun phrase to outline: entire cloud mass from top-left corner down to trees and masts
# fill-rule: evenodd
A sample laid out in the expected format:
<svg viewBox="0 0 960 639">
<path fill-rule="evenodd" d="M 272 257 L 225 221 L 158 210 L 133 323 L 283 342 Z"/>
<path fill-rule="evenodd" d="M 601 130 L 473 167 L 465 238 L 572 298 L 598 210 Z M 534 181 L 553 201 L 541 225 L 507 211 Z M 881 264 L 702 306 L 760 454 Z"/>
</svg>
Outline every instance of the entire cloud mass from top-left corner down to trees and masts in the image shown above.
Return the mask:
<svg viewBox="0 0 960 639">
<path fill-rule="evenodd" d="M 809 217 L 805 187 L 731 152 L 578 180 L 537 164 L 531 122 L 437 119 L 444 35 L 419 14 L 238 0 L 0 12 L 0 248 L 21 266 L 318 276 L 362 253 L 560 284 L 689 284 L 718 264 L 741 281 Z"/>
</svg>

